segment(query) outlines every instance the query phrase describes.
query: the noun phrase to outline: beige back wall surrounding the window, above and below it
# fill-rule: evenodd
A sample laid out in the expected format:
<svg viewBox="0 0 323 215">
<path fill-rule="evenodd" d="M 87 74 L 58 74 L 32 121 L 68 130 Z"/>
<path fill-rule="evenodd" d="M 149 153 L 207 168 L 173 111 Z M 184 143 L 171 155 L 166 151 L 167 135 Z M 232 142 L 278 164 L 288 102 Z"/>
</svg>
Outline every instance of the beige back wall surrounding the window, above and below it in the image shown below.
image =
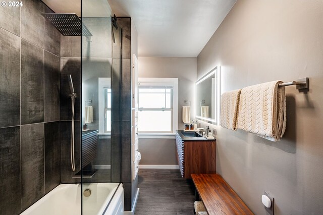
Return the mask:
<svg viewBox="0 0 323 215">
<path fill-rule="evenodd" d="M 139 77 L 178 78 L 178 129 L 184 128 L 182 106 L 191 101 L 191 118 L 196 82 L 196 58 L 139 57 Z M 178 165 L 175 139 L 139 139 L 140 165 Z"/>
</svg>

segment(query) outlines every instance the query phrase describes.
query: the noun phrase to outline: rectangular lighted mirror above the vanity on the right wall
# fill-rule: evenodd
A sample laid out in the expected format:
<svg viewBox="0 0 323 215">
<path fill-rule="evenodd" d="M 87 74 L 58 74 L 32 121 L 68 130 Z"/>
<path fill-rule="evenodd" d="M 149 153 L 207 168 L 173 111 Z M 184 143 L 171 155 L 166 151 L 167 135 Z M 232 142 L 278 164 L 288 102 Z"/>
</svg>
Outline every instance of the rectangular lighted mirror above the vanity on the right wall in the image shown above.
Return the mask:
<svg viewBox="0 0 323 215">
<path fill-rule="evenodd" d="M 220 118 L 220 71 L 212 69 L 196 82 L 196 118 L 217 125 Z"/>
</svg>

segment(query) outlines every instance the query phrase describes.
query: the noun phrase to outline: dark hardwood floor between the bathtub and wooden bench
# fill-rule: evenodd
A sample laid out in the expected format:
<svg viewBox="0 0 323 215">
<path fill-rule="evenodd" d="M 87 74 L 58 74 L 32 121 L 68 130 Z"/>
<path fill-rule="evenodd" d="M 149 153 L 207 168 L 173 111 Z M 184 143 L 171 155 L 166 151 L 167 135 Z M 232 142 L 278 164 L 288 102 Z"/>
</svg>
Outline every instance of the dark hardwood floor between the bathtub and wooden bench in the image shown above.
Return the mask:
<svg viewBox="0 0 323 215">
<path fill-rule="evenodd" d="M 194 214 L 194 184 L 179 170 L 140 169 L 135 215 Z"/>
</svg>

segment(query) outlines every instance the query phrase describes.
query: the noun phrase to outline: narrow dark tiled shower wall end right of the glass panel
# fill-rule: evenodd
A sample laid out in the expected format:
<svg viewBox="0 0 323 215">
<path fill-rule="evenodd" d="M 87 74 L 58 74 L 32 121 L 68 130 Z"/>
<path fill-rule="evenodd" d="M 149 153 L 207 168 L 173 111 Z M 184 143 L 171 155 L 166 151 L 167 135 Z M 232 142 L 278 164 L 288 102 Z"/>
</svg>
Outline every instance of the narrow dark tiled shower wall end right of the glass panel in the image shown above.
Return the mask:
<svg viewBox="0 0 323 215">
<path fill-rule="evenodd" d="M 113 43 L 113 59 L 112 59 L 112 78 L 120 80 L 119 84 L 113 81 L 113 90 L 115 90 L 115 95 L 113 96 L 113 102 L 116 101 L 120 106 L 116 106 L 112 117 L 113 125 L 118 125 L 118 130 L 113 132 L 115 137 L 112 139 L 112 150 L 113 154 L 121 153 L 121 182 L 124 188 L 124 198 L 125 198 L 125 210 L 130 211 L 133 205 L 133 200 L 135 192 L 137 190 L 137 180 L 132 180 L 132 142 L 131 142 L 131 18 L 118 18 L 118 25 L 122 28 L 122 69 L 120 71 L 120 46 L 118 45 L 118 40 L 120 38 L 120 31 L 115 33 L 116 43 Z M 114 86 L 115 84 L 115 86 Z M 120 91 L 119 91 L 120 89 Z M 120 99 L 120 100 L 119 100 Z M 115 103 L 114 103 L 115 104 Z M 120 114 L 120 115 L 116 115 Z M 115 118 L 114 116 L 120 116 Z M 120 125 L 119 125 L 120 124 Z M 113 130 L 116 128 L 112 128 Z M 122 131 L 122 135 L 120 135 Z M 121 138 L 121 139 L 118 139 Z M 120 141 L 120 143 L 119 143 Z M 119 145 L 119 144 L 121 145 Z M 121 151 L 119 151 L 116 146 L 119 146 Z M 118 171 L 116 167 L 119 167 L 120 160 L 112 159 L 112 170 Z M 119 167 L 120 168 L 120 167 Z M 112 174 L 113 177 L 118 176 Z"/>
</svg>

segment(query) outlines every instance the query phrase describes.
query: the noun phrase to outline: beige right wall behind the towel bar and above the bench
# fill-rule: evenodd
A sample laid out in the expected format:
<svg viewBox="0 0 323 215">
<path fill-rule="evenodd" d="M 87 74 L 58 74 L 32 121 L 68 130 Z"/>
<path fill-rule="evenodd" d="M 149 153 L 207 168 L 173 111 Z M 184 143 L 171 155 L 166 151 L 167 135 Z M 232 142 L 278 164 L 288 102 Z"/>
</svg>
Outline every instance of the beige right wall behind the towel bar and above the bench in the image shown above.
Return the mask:
<svg viewBox="0 0 323 215">
<path fill-rule="evenodd" d="M 214 66 L 222 92 L 309 77 L 308 93 L 286 87 L 280 142 L 217 127 L 217 172 L 255 214 L 265 214 L 263 191 L 276 214 L 322 214 L 323 1 L 238 0 L 199 54 L 197 78 Z"/>
</svg>

